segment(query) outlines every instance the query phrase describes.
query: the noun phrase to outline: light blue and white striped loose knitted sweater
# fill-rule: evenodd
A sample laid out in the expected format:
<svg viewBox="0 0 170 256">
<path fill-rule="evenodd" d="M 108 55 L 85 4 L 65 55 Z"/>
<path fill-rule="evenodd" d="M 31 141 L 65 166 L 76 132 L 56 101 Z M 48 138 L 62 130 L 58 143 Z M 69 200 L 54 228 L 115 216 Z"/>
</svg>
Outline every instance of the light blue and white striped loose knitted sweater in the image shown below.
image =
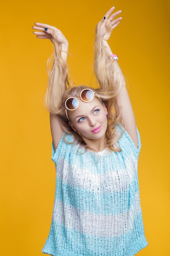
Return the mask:
<svg viewBox="0 0 170 256">
<path fill-rule="evenodd" d="M 66 144 L 52 149 L 56 190 L 49 237 L 52 256 L 133 256 L 147 245 L 139 199 L 138 148 L 125 131 L 120 152 Z M 66 135 L 73 141 L 73 135 Z"/>
</svg>

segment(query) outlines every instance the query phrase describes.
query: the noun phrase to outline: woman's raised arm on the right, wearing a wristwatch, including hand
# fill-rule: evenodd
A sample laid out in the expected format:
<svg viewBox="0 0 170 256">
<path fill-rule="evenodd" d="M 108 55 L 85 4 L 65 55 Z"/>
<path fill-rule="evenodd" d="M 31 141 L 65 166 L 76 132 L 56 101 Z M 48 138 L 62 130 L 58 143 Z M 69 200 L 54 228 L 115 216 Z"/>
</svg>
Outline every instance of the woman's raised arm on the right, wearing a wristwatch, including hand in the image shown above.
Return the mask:
<svg viewBox="0 0 170 256">
<path fill-rule="evenodd" d="M 105 14 L 104 18 L 97 24 L 95 38 L 95 75 L 102 88 L 107 92 L 114 93 L 114 106 L 117 115 L 121 116 L 121 124 L 130 135 L 135 146 L 138 146 L 136 122 L 130 98 L 126 90 L 126 83 L 121 69 L 117 63 L 110 57 L 113 54 L 108 39 L 115 27 L 119 25 L 121 17 L 117 17 L 121 11 L 113 14 L 115 7 Z"/>
</svg>

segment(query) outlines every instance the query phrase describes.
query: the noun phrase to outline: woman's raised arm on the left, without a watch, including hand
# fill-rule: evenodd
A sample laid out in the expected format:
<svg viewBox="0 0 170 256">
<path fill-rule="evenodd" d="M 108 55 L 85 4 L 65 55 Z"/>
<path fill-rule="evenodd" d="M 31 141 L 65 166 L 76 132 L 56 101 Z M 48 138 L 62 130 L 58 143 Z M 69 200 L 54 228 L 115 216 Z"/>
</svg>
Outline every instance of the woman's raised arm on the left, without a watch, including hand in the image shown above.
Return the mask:
<svg viewBox="0 0 170 256">
<path fill-rule="evenodd" d="M 64 129 L 61 126 L 60 110 L 62 108 L 62 97 L 68 86 L 68 41 L 62 32 L 56 27 L 35 23 L 33 34 L 40 39 L 49 39 L 54 44 L 54 58 L 51 72 L 49 74 L 49 84 L 46 93 L 46 106 L 50 112 L 51 135 L 54 148 L 60 141 Z"/>
</svg>

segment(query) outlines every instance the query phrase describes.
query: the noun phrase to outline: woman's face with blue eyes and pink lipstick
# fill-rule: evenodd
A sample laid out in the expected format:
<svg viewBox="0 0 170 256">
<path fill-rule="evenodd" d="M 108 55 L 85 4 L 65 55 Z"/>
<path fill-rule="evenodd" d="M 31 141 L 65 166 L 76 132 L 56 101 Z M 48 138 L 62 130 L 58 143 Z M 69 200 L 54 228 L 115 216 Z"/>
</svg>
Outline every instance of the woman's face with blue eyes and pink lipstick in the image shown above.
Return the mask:
<svg viewBox="0 0 170 256">
<path fill-rule="evenodd" d="M 79 97 L 79 106 L 76 110 L 68 110 L 70 126 L 74 131 L 81 133 L 82 138 L 88 144 L 88 140 L 105 138 L 107 129 L 107 109 L 97 98 L 90 102 L 84 102 Z"/>
</svg>

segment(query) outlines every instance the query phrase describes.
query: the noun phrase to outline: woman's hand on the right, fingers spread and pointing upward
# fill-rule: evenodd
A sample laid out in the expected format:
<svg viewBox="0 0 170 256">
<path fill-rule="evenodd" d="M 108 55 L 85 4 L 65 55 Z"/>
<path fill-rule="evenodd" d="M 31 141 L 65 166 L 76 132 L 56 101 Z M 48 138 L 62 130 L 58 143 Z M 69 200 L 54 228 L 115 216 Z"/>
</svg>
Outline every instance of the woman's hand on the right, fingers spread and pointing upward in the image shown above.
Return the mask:
<svg viewBox="0 0 170 256">
<path fill-rule="evenodd" d="M 122 17 L 116 18 L 121 11 L 116 11 L 115 13 L 111 14 L 115 7 L 110 8 L 109 11 L 106 12 L 104 18 L 99 22 L 100 23 L 100 34 L 103 40 L 108 40 L 112 33 L 112 30 L 119 25 L 120 20 Z M 111 15 L 110 15 L 111 14 Z"/>
</svg>

